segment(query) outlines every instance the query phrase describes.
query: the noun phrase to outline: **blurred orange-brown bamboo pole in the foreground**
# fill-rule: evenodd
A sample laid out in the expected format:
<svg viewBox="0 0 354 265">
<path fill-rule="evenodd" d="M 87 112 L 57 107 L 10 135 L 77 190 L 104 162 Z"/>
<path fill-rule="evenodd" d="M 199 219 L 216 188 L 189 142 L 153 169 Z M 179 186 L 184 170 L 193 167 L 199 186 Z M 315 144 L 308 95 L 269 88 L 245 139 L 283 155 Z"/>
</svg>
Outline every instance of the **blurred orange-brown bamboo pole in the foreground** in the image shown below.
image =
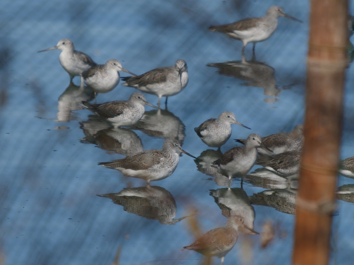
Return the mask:
<svg viewBox="0 0 354 265">
<path fill-rule="evenodd" d="M 312 0 L 293 264 L 328 264 L 347 66 L 347 0 Z"/>
</svg>

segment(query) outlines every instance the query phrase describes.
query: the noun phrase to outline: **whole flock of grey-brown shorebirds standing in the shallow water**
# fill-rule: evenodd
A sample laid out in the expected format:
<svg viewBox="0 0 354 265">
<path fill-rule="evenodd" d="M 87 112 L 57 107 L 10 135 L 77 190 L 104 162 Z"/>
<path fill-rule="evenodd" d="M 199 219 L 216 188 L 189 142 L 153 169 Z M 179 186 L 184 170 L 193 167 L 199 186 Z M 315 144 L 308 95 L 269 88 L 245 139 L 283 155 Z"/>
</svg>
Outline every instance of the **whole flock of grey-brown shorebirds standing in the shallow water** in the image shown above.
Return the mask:
<svg viewBox="0 0 354 265">
<path fill-rule="evenodd" d="M 273 34 L 277 28 L 279 16 L 301 22 L 287 15 L 281 7 L 272 6 L 264 17 L 245 18 L 231 24 L 211 26 L 209 30 L 241 40 L 243 42 L 242 56 L 247 43 L 253 42 L 254 54 L 255 43 L 264 41 Z M 167 104 L 167 97 L 181 92 L 188 83 L 187 63 L 182 59 L 178 59 L 173 66 L 156 68 L 137 76 L 124 69 L 116 59 L 110 59 L 104 65 L 98 65 L 89 55 L 76 51 L 73 42 L 69 39 L 62 39 L 56 46 L 40 52 L 52 49 L 61 50 L 59 61 L 69 73 L 70 82 L 75 76 L 80 76 L 81 87 L 85 84 L 89 86 L 95 92 L 95 100 L 97 93 L 110 92 L 118 85 L 120 79 L 125 81 L 122 86 L 134 87 L 142 92 L 158 96 L 158 106 L 147 102 L 141 93 L 133 93 L 127 101 L 110 101 L 102 104 L 85 101 L 81 103 L 82 107 L 97 114 L 115 128 L 135 124 L 144 114 L 144 105 L 159 108 L 162 96 L 166 97 L 165 104 Z M 119 71 L 125 71 L 132 76 L 120 78 Z M 232 124 L 239 124 L 250 129 L 239 123 L 232 112 L 225 111 L 218 118 L 208 119 L 194 130 L 206 145 L 220 148 L 230 138 Z M 229 187 L 230 179 L 233 177 L 241 178 L 242 187 L 243 177 L 255 164 L 262 165 L 282 176 L 294 175 L 299 169 L 303 145 L 302 125 L 297 125 L 290 133 L 279 133 L 263 138 L 258 134 L 250 134 L 247 139 L 236 141 L 244 146 L 230 149 L 211 164 L 218 173 L 229 178 Z M 123 159 L 102 162 L 99 165 L 119 170 L 125 176 L 144 179 L 149 184 L 150 181 L 169 177 L 178 165 L 181 152 L 197 159 L 185 152 L 177 140 L 166 139 L 161 150 L 147 150 Z M 354 165 L 354 159 L 351 159 L 350 163 Z M 353 168 L 351 172 L 354 175 Z M 251 231 L 252 234 L 258 234 L 244 224 L 242 217 L 233 216 L 229 218 L 226 227 L 208 231 L 183 249 L 193 249 L 205 255 L 218 256 L 223 263 L 225 255 L 237 241 L 238 231 L 245 229 Z"/>
</svg>

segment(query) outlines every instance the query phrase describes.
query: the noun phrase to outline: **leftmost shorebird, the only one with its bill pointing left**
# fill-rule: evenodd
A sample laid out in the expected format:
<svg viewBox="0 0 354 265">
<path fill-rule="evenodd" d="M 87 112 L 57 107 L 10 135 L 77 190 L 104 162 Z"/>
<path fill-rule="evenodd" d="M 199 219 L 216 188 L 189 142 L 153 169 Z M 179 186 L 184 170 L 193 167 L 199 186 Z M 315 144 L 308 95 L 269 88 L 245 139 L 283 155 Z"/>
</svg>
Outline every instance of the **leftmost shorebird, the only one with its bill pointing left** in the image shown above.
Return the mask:
<svg viewBox="0 0 354 265">
<path fill-rule="evenodd" d="M 64 70 L 70 76 L 70 83 L 73 81 L 74 76 L 79 76 L 83 71 L 89 70 L 97 64 L 91 57 L 83 52 L 75 51 L 74 44 L 69 39 L 62 39 L 54 47 L 39 51 L 46 52 L 53 49 L 59 49 L 62 52 L 59 55 L 59 62 Z"/>
</svg>

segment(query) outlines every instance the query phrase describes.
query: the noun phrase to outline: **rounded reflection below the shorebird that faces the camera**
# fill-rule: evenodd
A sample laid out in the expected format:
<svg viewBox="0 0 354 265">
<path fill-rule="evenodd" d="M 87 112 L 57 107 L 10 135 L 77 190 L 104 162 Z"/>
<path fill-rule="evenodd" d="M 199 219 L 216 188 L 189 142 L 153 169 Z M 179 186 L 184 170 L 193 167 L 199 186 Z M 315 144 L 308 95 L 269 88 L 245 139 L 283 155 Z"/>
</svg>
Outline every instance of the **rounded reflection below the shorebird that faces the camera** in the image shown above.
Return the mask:
<svg viewBox="0 0 354 265">
<path fill-rule="evenodd" d="M 145 111 L 143 117 L 131 128 L 152 137 L 174 138 L 181 145 L 185 137 L 183 122 L 168 110 Z"/>
</svg>

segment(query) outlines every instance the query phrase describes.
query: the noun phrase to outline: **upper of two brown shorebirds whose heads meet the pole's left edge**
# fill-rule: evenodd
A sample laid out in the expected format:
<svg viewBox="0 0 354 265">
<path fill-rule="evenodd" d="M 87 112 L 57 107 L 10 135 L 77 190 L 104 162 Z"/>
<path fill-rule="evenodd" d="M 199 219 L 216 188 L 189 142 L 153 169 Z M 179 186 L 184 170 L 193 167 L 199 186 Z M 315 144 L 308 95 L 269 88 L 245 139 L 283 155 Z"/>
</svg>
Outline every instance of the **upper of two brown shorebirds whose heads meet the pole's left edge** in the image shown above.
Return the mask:
<svg viewBox="0 0 354 265">
<path fill-rule="evenodd" d="M 236 142 L 245 144 L 246 139 L 235 139 Z M 264 146 L 273 151 L 258 147 L 258 153 L 264 155 L 275 155 L 292 150 L 301 150 L 304 143 L 303 125 L 296 125 L 290 133 L 278 133 L 268 135 L 262 138 Z"/>
</svg>

